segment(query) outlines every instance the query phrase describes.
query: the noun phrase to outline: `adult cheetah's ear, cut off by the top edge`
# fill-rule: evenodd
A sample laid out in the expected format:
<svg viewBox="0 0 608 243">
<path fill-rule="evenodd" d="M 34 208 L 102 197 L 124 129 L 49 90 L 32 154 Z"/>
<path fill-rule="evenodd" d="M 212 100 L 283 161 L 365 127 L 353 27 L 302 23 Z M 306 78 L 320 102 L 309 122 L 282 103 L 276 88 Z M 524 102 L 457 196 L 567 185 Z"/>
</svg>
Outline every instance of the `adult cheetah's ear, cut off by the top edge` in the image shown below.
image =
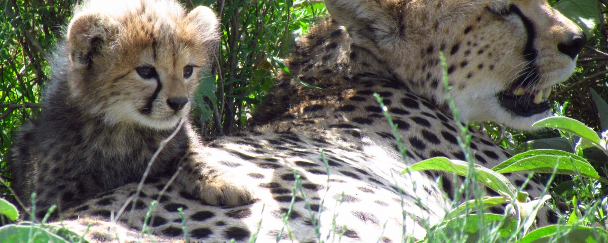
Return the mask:
<svg viewBox="0 0 608 243">
<path fill-rule="evenodd" d="M 346 27 L 358 44 L 382 45 L 404 40 L 406 1 L 325 0 L 331 17 Z"/>
</svg>

